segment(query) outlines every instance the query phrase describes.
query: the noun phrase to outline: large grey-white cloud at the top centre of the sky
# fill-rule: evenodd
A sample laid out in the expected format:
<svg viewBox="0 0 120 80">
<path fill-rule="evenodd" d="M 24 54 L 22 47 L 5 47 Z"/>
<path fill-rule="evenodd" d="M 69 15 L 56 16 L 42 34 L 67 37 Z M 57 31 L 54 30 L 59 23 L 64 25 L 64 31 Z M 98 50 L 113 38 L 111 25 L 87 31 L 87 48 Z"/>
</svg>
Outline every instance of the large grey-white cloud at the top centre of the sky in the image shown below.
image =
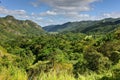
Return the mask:
<svg viewBox="0 0 120 80">
<path fill-rule="evenodd" d="M 89 11 L 91 10 L 91 3 L 99 0 L 36 0 L 32 2 L 32 5 L 37 7 L 42 3 L 52 7 L 53 10 L 57 11 Z"/>
</svg>

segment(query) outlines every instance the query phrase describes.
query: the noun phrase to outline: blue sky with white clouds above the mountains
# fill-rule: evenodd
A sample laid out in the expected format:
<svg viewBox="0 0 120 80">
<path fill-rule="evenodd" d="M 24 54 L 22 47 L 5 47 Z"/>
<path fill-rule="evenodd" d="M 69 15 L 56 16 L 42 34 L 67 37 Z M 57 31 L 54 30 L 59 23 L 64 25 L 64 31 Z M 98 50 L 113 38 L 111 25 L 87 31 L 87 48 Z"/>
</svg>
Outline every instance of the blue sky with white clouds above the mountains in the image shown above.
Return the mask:
<svg viewBox="0 0 120 80">
<path fill-rule="evenodd" d="M 0 0 L 0 17 L 12 15 L 42 27 L 120 17 L 120 0 Z"/>
</svg>

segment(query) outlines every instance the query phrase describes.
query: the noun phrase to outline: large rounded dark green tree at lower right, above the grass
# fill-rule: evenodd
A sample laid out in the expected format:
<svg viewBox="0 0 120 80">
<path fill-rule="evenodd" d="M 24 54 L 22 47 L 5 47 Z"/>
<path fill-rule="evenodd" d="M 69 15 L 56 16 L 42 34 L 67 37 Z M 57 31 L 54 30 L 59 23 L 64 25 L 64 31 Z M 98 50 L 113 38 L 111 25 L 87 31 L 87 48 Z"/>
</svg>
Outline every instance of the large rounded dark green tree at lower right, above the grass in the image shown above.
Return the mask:
<svg viewBox="0 0 120 80">
<path fill-rule="evenodd" d="M 110 61 L 107 57 L 97 52 L 88 52 L 85 54 L 87 68 L 98 73 L 110 68 Z"/>
</svg>

